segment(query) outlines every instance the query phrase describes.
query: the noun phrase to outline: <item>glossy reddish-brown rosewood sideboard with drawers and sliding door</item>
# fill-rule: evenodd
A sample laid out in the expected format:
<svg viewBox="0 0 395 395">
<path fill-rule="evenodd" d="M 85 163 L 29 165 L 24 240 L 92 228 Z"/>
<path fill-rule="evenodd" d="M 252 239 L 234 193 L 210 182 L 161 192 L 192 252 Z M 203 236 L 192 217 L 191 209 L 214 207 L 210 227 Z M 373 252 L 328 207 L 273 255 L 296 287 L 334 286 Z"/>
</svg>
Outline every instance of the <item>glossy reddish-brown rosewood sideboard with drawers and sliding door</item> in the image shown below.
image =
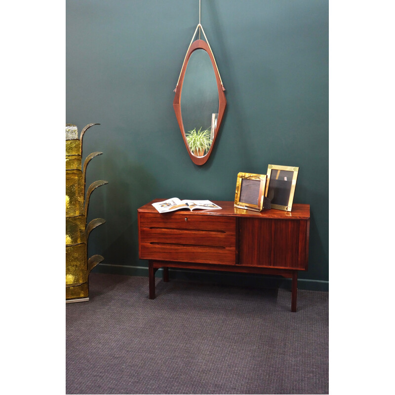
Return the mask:
<svg viewBox="0 0 395 395">
<path fill-rule="evenodd" d="M 292 278 L 291 311 L 296 312 L 298 271 L 309 257 L 310 205 L 292 211 L 261 212 L 214 201 L 221 210 L 159 213 L 155 199 L 138 209 L 139 258 L 148 260 L 149 298 L 155 298 L 155 272 L 187 268 L 279 275 Z"/>
</svg>

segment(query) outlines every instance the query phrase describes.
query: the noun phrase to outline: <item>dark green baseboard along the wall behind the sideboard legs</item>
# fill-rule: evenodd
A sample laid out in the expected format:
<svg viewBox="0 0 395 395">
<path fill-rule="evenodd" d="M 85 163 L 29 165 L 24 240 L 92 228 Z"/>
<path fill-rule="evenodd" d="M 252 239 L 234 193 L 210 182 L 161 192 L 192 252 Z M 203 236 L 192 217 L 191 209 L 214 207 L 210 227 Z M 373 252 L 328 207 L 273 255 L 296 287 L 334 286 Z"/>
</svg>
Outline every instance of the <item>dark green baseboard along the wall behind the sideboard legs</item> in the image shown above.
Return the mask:
<svg viewBox="0 0 395 395">
<path fill-rule="evenodd" d="M 148 268 L 143 266 L 110 265 L 100 263 L 92 272 L 116 274 L 125 276 L 148 277 Z M 156 273 L 156 277 L 162 276 L 162 269 Z M 264 276 L 250 273 L 217 272 L 193 269 L 169 269 L 170 280 L 200 280 L 211 281 L 228 285 L 253 286 L 256 288 L 285 288 L 291 289 L 291 279 L 281 276 Z M 148 286 L 148 283 L 147 283 Z M 298 289 L 308 291 L 329 291 L 329 281 L 298 278 Z"/>
</svg>

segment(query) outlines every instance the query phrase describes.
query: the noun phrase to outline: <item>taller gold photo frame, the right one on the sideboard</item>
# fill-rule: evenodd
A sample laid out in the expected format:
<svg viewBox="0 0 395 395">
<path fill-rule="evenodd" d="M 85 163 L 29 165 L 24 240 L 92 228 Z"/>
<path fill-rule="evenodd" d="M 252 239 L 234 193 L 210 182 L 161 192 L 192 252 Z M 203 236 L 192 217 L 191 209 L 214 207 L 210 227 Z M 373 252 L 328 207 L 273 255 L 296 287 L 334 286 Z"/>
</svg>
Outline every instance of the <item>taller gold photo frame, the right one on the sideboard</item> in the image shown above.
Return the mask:
<svg viewBox="0 0 395 395">
<path fill-rule="evenodd" d="M 298 172 L 299 167 L 269 164 L 265 197 L 270 199 L 272 208 L 292 211 Z"/>
</svg>

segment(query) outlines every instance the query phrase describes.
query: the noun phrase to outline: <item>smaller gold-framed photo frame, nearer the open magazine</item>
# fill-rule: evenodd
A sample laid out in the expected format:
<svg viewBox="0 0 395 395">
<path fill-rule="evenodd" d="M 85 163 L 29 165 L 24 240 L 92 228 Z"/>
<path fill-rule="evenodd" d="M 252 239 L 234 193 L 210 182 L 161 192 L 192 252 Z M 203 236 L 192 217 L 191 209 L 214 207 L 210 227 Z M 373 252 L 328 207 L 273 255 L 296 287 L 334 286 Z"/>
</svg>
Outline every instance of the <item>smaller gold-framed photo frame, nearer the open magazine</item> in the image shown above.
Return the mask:
<svg viewBox="0 0 395 395">
<path fill-rule="evenodd" d="M 235 207 L 262 211 L 266 179 L 265 174 L 238 173 Z"/>
</svg>

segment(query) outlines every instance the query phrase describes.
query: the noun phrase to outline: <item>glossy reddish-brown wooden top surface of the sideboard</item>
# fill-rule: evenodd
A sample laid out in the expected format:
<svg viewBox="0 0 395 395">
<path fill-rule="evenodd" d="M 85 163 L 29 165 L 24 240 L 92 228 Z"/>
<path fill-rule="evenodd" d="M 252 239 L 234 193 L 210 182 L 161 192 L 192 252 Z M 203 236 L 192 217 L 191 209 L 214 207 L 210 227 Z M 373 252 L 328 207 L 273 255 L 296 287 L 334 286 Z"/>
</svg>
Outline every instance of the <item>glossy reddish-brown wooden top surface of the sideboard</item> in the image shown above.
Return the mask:
<svg viewBox="0 0 395 395">
<path fill-rule="evenodd" d="M 163 201 L 164 199 L 154 199 L 144 206 L 140 207 L 137 211 L 144 213 L 158 213 L 157 209 L 152 205 L 152 203 L 156 203 L 158 201 Z M 295 203 L 292 205 L 292 211 L 282 211 L 272 209 L 263 209 L 262 211 L 252 211 L 252 210 L 244 210 L 241 208 L 234 207 L 233 201 L 222 201 L 222 200 L 213 200 L 215 204 L 222 207 L 221 210 L 187 210 L 180 209 L 176 211 L 170 211 L 169 213 L 162 213 L 161 215 L 185 215 L 185 214 L 204 214 L 204 215 L 226 215 L 226 216 L 235 216 L 235 217 L 264 217 L 270 219 L 309 219 L 310 218 L 310 204 L 298 204 Z"/>
</svg>

